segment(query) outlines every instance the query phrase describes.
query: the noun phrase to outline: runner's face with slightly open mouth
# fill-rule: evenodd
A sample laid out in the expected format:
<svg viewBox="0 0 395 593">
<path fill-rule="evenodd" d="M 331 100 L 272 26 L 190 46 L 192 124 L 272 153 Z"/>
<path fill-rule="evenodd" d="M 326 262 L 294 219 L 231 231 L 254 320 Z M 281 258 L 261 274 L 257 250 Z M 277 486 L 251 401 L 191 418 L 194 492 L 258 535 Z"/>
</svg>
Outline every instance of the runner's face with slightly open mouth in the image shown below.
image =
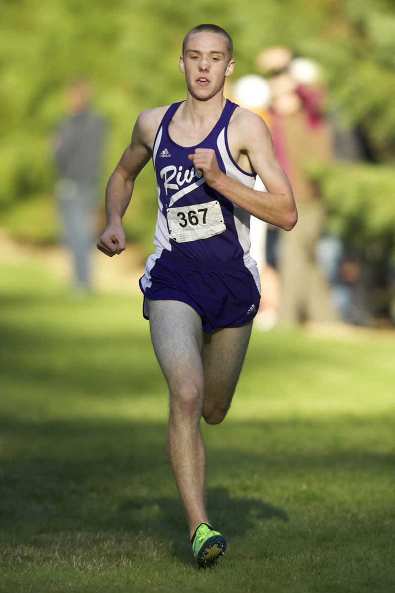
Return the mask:
<svg viewBox="0 0 395 593">
<path fill-rule="evenodd" d="M 218 33 L 193 33 L 179 58 L 179 69 L 185 74 L 192 97 L 207 100 L 221 91 L 225 77 L 233 73 L 226 39 Z"/>
</svg>

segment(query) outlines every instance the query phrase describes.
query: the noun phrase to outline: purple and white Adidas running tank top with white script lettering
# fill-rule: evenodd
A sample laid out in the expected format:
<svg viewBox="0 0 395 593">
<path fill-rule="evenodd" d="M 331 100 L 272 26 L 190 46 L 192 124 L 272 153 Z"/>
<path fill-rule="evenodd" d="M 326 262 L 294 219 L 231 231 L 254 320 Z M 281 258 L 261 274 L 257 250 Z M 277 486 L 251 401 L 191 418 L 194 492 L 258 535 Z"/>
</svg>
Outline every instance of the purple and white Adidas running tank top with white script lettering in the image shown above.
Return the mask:
<svg viewBox="0 0 395 593">
<path fill-rule="evenodd" d="M 214 149 L 223 173 L 253 187 L 255 175 L 237 165 L 227 142 L 227 127 L 237 105 L 226 100 L 220 119 L 207 138 L 188 147 L 176 144 L 168 132 L 180 105 L 181 102 L 174 103 L 166 111 L 153 146 L 159 202 L 155 247 L 204 262 L 226 262 L 246 256 L 250 247 L 249 214 L 208 186 L 188 159 L 196 148 Z"/>
</svg>

